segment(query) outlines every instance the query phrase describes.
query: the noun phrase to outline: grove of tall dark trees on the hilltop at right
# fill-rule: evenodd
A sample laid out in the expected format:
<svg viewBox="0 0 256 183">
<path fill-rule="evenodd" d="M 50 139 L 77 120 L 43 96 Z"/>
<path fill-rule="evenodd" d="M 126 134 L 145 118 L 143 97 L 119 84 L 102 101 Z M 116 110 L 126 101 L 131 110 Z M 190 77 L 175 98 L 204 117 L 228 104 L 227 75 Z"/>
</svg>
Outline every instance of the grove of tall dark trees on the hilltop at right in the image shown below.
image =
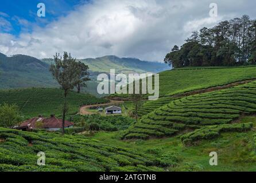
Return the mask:
<svg viewBox="0 0 256 183">
<path fill-rule="evenodd" d="M 194 31 L 164 59 L 175 67 L 236 66 L 256 63 L 256 20 L 248 15 Z"/>
</svg>

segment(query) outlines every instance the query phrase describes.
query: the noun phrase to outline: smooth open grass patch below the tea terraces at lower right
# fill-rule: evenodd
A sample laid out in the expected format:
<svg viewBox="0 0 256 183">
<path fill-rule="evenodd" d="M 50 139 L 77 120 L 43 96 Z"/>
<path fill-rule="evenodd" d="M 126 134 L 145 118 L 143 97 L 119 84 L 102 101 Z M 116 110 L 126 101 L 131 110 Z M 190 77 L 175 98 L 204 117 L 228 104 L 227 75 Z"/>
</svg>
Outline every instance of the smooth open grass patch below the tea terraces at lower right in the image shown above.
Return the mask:
<svg viewBox="0 0 256 183">
<path fill-rule="evenodd" d="M 201 140 L 195 146 L 184 146 L 180 136 L 120 141 L 118 133 L 102 132 L 94 138 L 141 152 L 176 153 L 181 161 L 170 171 L 256 171 L 256 117 L 245 116 L 239 122 L 253 122 L 254 128 L 249 132 L 223 132 L 218 138 Z M 209 165 L 210 152 L 218 153 L 218 166 Z"/>
</svg>

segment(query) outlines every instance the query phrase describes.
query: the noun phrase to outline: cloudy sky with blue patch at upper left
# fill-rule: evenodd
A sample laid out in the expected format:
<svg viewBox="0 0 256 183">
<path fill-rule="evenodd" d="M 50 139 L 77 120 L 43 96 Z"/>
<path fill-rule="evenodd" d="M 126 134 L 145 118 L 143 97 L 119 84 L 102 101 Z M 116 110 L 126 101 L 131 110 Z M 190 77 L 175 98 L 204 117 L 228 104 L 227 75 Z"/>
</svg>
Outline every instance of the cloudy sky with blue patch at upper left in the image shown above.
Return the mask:
<svg viewBox="0 0 256 183">
<path fill-rule="evenodd" d="M 37 16 L 44 3 L 45 17 Z M 218 17 L 210 17 L 210 4 Z M 162 61 L 191 31 L 243 14 L 256 18 L 251 0 L 11 0 L 1 1 L 0 52 L 76 58 L 117 55 Z"/>
</svg>

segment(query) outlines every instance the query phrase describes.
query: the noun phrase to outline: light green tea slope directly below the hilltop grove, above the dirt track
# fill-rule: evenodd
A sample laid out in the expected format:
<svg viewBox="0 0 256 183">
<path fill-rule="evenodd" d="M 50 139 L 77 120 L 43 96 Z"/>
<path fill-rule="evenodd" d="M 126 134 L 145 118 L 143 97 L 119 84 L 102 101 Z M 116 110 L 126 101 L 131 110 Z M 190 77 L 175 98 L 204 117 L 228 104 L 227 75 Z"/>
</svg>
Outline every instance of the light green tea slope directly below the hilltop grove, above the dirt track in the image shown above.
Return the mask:
<svg viewBox="0 0 256 183">
<path fill-rule="evenodd" d="M 160 73 L 160 99 L 146 101 L 139 110 L 140 116 L 160 108 L 173 100 L 174 94 L 209 87 L 223 86 L 231 82 L 256 78 L 256 67 L 193 67 Z"/>
</svg>

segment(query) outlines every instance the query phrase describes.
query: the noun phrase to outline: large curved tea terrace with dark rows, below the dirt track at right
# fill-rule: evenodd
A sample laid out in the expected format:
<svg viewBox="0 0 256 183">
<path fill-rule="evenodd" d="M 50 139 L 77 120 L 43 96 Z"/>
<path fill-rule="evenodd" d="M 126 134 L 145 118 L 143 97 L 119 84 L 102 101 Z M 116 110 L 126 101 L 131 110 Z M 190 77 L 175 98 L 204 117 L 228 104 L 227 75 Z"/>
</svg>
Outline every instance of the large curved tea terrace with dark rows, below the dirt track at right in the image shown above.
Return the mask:
<svg viewBox="0 0 256 183">
<path fill-rule="evenodd" d="M 146 114 L 123 138 L 172 136 L 207 125 L 230 124 L 241 114 L 256 113 L 256 82 L 171 101 Z"/>
</svg>

